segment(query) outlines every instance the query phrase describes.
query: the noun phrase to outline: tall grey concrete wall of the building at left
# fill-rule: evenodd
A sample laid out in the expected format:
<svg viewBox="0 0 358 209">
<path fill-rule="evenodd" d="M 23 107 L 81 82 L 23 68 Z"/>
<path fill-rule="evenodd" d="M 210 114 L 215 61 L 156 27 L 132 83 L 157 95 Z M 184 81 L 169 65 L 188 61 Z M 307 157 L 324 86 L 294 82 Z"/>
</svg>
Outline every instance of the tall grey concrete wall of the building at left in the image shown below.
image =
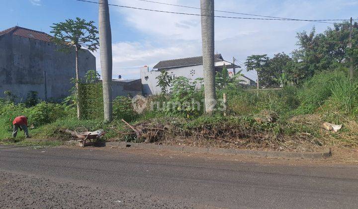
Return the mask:
<svg viewBox="0 0 358 209">
<path fill-rule="evenodd" d="M 17 102 L 23 102 L 28 91 L 38 92 L 42 100 L 68 96 L 73 87 L 70 80 L 76 77 L 75 51 L 65 53 L 57 49 L 59 46 L 54 43 L 12 34 L 1 35 L 0 97 L 4 91 L 16 95 Z M 95 70 L 95 57 L 88 50 L 81 51 L 79 57 L 80 77 Z"/>
</svg>

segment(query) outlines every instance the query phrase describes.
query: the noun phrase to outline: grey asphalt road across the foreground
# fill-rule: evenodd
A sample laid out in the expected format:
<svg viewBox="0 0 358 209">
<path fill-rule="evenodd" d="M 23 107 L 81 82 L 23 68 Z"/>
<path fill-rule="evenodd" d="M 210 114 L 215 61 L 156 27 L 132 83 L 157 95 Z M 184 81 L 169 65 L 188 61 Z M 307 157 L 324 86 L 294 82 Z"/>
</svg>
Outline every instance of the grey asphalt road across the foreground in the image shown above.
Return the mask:
<svg viewBox="0 0 358 209">
<path fill-rule="evenodd" d="M 358 166 L 0 146 L 0 208 L 358 208 Z"/>
</svg>

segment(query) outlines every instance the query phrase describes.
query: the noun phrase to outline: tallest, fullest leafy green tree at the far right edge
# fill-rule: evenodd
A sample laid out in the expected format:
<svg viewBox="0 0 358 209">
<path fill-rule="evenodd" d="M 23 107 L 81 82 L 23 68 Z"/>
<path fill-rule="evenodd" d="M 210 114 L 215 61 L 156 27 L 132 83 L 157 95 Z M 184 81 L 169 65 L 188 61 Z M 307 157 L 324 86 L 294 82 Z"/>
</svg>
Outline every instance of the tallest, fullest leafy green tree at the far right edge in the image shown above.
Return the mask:
<svg viewBox="0 0 358 209">
<path fill-rule="evenodd" d="M 358 47 L 358 24 L 355 23 L 353 26 L 352 49 L 349 48 L 349 24 L 348 21 L 336 23 L 318 34 L 314 27 L 309 33 L 306 31 L 297 33 L 299 49 L 295 51 L 295 55 L 300 72 L 303 74 L 300 76 L 301 79 L 310 78 L 317 72 L 350 65 L 349 58 L 351 56 L 355 58 L 353 51 Z M 358 60 L 354 60 L 354 65 L 357 67 Z M 291 63 L 291 66 L 294 65 Z"/>
</svg>

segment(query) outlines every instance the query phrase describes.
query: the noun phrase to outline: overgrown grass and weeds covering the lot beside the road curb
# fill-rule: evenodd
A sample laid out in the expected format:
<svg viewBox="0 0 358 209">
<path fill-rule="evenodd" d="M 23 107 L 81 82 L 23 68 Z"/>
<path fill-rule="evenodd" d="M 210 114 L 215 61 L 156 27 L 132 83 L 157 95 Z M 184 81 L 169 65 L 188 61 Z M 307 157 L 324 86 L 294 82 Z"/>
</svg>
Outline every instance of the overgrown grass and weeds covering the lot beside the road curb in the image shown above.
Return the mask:
<svg viewBox="0 0 358 209">
<path fill-rule="evenodd" d="M 134 125 L 161 124 L 160 128 L 167 131 L 156 140 L 172 143 L 178 139 L 180 143 L 195 146 L 222 144 L 236 148 L 290 150 L 307 150 L 308 145 L 357 146 L 357 90 L 357 81 L 351 81 L 343 71 L 318 73 L 301 87 L 286 86 L 278 91 L 260 91 L 259 95 L 244 88 L 226 88 L 218 90 L 217 97 L 222 98 L 224 93 L 227 95 L 227 116 L 223 116 L 223 112 L 207 115 L 202 110 L 170 111 L 163 108 L 163 103 L 180 100 L 178 95 L 151 97 L 148 104 L 154 102 L 154 105 L 148 105 L 141 114 L 137 114 L 131 106 L 131 99 L 120 97 L 113 103 L 114 120 L 111 123 L 101 119 L 78 120 L 73 105 L 42 102 L 26 107 L 24 104 L 2 102 L 0 143 L 57 145 L 71 138 L 66 129 L 79 132 L 103 129 L 107 132 L 105 140 L 142 141 L 125 134 L 133 131 L 120 121 L 123 118 Z M 203 99 L 202 92 L 182 92 L 182 95 L 190 95 L 185 99 L 187 101 L 191 98 Z M 274 112 L 274 120 L 265 121 L 269 117 L 265 115 L 267 112 Z M 34 129 L 30 129 L 34 138 L 46 140 L 24 140 L 23 132 L 19 132 L 18 138 L 12 139 L 11 122 L 18 115 L 27 115 L 29 124 L 35 125 Z M 344 126 L 338 133 L 332 133 L 320 128 L 322 122 Z M 218 139 L 228 139 L 230 142 Z"/>
</svg>

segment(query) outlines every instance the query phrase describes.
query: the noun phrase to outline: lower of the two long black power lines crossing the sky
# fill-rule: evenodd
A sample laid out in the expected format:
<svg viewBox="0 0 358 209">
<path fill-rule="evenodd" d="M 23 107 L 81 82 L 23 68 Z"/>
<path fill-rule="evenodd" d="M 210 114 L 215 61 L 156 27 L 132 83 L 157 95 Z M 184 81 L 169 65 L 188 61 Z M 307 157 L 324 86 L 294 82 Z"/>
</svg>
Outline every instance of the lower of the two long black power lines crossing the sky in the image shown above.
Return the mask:
<svg viewBox="0 0 358 209">
<path fill-rule="evenodd" d="M 83 1 L 88 3 L 95 3 L 95 4 L 101 4 L 99 2 L 90 1 L 90 0 L 77 0 L 77 1 Z M 172 14 L 183 14 L 183 15 L 193 15 L 193 16 L 212 16 L 212 15 L 202 15 L 202 14 L 193 14 L 193 13 L 185 13 L 185 12 L 174 12 L 174 11 L 165 11 L 165 10 L 157 10 L 157 9 L 148 9 L 148 8 L 140 8 L 140 7 L 133 7 L 133 6 L 124 6 L 124 5 L 118 5 L 118 4 L 110 4 L 110 6 L 118 6 L 123 8 L 132 8 L 132 9 L 139 9 L 139 10 L 145 10 L 145 11 L 156 11 L 156 12 L 163 12 L 163 13 L 172 13 Z M 309 22 L 322 22 L 322 23 L 330 23 L 334 24 L 334 22 L 323 22 L 323 21 L 343 21 L 345 19 L 279 19 L 279 18 L 253 18 L 253 17 L 232 17 L 232 16 L 216 16 L 219 18 L 230 18 L 230 19 L 252 19 L 252 20 L 286 20 L 286 21 L 309 21 Z M 338 23 L 343 24 L 343 23 Z"/>
</svg>

